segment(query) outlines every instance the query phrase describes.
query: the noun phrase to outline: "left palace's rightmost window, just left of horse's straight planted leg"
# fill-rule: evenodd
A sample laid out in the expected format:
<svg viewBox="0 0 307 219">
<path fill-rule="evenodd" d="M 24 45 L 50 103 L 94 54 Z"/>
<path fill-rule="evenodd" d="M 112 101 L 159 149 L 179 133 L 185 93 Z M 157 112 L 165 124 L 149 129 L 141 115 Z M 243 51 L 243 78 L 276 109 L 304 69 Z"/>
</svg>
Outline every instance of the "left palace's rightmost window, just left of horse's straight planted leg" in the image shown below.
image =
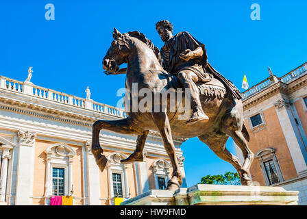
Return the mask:
<svg viewBox="0 0 307 219">
<path fill-rule="evenodd" d="M 171 165 L 164 159 L 157 159 L 151 164 L 156 179 L 156 189 L 165 190 L 169 181 Z"/>
</svg>

